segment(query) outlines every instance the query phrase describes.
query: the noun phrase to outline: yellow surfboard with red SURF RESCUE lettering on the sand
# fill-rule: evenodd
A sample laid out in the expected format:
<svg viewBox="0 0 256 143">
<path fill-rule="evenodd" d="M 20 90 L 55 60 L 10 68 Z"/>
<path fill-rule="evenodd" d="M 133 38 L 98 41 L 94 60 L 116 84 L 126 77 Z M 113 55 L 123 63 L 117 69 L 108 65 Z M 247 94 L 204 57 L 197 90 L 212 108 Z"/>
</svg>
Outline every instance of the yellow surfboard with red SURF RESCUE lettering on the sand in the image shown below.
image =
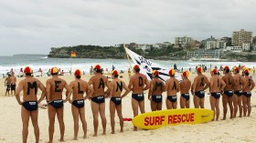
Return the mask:
<svg viewBox="0 0 256 143">
<path fill-rule="evenodd" d="M 210 121 L 213 111 L 204 108 L 181 108 L 153 111 L 133 117 L 133 126 L 156 129 L 180 124 L 198 124 Z"/>
</svg>

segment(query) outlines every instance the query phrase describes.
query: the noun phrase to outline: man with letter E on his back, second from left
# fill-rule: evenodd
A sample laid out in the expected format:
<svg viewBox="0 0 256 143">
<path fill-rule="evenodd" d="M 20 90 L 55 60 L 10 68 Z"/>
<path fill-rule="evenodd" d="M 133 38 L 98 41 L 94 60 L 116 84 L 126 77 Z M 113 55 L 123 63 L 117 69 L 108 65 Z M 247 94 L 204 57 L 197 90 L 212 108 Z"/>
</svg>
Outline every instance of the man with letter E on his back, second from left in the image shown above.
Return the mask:
<svg viewBox="0 0 256 143">
<path fill-rule="evenodd" d="M 49 135 L 49 143 L 53 140 L 54 134 L 54 123 L 55 117 L 57 115 L 59 120 L 59 130 L 60 130 L 60 141 L 64 141 L 64 132 L 65 132 L 65 124 L 63 120 L 63 110 L 64 105 L 69 101 L 69 97 L 71 95 L 71 88 L 69 87 L 68 83 L 64 80 L 59 78 L 59 70 L 57 67 L 52 67 L 50 69 L 51 78 L 47 80 L 47 87 L 46 87 L 46 96 L 48 102 L 48 135 Z M 66 99 L 62 99 L 62 92 L 63 89 L 66 89 Z"/>
</svg>

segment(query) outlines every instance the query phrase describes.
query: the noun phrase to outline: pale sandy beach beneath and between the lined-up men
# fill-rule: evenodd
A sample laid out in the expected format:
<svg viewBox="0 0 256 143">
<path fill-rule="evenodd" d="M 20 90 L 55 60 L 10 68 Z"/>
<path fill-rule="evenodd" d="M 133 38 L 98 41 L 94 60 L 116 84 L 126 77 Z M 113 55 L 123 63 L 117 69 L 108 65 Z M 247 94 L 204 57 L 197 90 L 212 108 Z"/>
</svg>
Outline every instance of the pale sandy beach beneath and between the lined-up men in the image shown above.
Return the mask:
<svg viewBox="0 0 256 143">
<path fill-rule="evenodd" d="M 208 78 L 209 74 L 206 74 Z M 189 79 L 192 80 L 196 74 L 190 74 Z M 89 80 L 91 76 L 83 76 L 82 79 L 86 81 Z M 255 81 L 255 77 L 253 77 Z M 44 85 L 49 77 L 37 77 Z M 73 80 L 73 76 L 64 76 L 68 83 Z M 17 82 L 19 82 L 22 77 L 17 77 Z M 126 84 L 128 84 L 128 77 L 126 74 L 123 74 L 122 78 Z M 5 87 L 4 79 L 0 80 L 0 142 L 5 143 L 15 143 L 22 141 L 22 121 L 20 114 L 20 106 L 16 102 L 16 97 L 9 96 L 5 97 Z M 208 93 L 208 90 L 207 90 Z M 73 118 L 71 114 L 71 106 L 69 103 L 65 104 L 64 109 L 64 121 L 66 126 L 65 131 L 65 140 L 66 142 L 227 142 L 227 143 L 242 143 L 242 142 L 255 142 L 256 138 L 256 90 L 252 91 L 251 97 L 251 117 L 237 117 L 235 119 L 219 120 L 212 121 L 205 124 L 197 125 L 181 125 L 173 127 L 159 128 L 155 130 L 143 130 L 139 129 L 138 131 L 133 131 L 133 125 L 130 121 L 124 122 L 124 132 L 119 133 L 119 119 L 116 116 L 115 130 L 116 134 L 111 134 L 111 125 L 110 125 L 110 113 L 109 113 L 109 101 L 106 99 L 106 117 L 107 117 L 107 135 L 101 135 L 101 119 L 99 124 L 99 136 L 92 137 L 93 133 L 93 123 L 92 123 L 92 114 L 91 114 L 91 101 L 85 101 L 86 107 L 86 120 L 88 124 L 88 138 L 82 138 L 82 129 L 80 124 L 79 131 L 79 140 L 72 140 L 73 138 Z M 145 92 L 147 97 L 147 91 Z M 164 99 L 165 99 L 164 93 Z M 39 97 L 39 96 L 38 96 Z M 178 94 L 178 101 L 180 95 Z M 209 105 L 209 96 L 206 94 L 205 105 L 206 108 L 210 108 Z M 220 99 L 221 100 L 221 99 Z M 42 102 L 46 103 L 46 100 Z M 194 107 L 193 100 L 190 100 L 190 107 Z M 222 102 L 220 101 L 220 119 L 223 117 Z M 163 102 L 163 109 L 165 109 L 165 100 Z M 179 103 L 178 103 L 179 108 Z M 145 110 L 146 112 L 151 111 L 150 102 L 148 99 L 145 99 Z M 131 106 L 131 93 L 123 98 L 123 117 L 133 117 L 133 110 Z M 229 111 L 228 115 L 229 117 Z M 48 141 L 48 110 L 39 108 L 38 113 L 38 123 L 40 128 L 40 142 Z M 56 120 L 55 123 L 55 134 L 54 142 L 59 142 L 59 123 Z M 29 122 L 29 135 L 27 142 L 35 142 L 34 130 L 31 122 Z"/>
</svg>

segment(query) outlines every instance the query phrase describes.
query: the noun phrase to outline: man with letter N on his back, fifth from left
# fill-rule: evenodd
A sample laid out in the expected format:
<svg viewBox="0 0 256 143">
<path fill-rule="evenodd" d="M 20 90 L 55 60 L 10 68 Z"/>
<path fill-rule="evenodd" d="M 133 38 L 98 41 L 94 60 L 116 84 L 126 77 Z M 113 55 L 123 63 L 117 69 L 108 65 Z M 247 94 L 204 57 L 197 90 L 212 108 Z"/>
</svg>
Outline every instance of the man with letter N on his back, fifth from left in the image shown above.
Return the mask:
<svg viewBox="0 0 256 143">
<path fill-rule="evenodd" d="M 130 89 L 125 85 L 123 80 L 118 78 L 119 73 L 117 70 L 112 71 L 112 82 L 111 82 L 111 101 L 110 101 L 110 113 L 111 113 L 111 125 L 112 125 L 112 134 L 115 133 L 114 131 L 114 117 L 115 117 L 115 110 L 119 117 L 120 123 L 120 132 L 123 132 L 123 114 L 122 114 L 122 98 L 125 97 L 129 92 Z M 123 89 L 125 92 L 122 95 Z"/>
</svg>

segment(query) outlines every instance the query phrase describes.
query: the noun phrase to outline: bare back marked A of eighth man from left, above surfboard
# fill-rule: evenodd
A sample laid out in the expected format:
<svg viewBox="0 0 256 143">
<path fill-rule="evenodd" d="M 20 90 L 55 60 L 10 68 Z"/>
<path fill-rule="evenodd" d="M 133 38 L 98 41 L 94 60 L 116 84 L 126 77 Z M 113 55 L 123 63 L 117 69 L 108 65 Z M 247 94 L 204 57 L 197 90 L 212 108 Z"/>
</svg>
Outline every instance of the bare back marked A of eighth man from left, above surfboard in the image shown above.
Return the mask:
<svg viewBox="0 0 256 143">
<path fill-rule="evenodd" d="M 166 80 L 165 83 L 165 90 L 167 92 L 167 96 L 176 96 L 176 93 L 180 90 L 178 80 L 175 77 L 170 77 Z"/>
</svg>

